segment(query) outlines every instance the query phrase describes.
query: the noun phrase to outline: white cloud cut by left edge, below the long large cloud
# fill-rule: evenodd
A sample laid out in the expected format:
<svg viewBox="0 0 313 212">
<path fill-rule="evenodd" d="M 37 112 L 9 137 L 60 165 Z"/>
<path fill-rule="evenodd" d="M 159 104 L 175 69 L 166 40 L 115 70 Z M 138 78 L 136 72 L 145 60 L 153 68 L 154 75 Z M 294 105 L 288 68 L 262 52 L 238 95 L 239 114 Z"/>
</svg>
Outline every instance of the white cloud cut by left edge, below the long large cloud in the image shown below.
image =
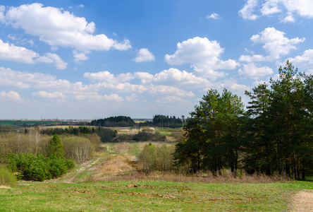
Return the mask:
<svg viewBox="0 0 313 212">
<path fill-rule="evenodd" d="M 24 47 L 16 47 L 9 45 L 8 42 L 3 42 L 0 39 L 0 59 L 15 61 L 26 64 L 35 64 L 34 58 L 39 57 L 36 52 Z"/>
</svg>

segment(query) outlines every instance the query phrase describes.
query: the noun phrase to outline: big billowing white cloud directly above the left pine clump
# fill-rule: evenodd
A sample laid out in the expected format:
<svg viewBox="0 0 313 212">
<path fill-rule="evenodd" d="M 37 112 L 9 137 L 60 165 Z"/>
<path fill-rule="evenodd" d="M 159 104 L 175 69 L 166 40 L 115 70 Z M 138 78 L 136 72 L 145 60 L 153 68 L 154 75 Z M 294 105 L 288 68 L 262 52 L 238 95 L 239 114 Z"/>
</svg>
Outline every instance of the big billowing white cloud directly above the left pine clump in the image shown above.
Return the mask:
<svg viewBox="0 0 313 212">
<path fill-rule="evenodd" d="M 178 42 L 174 54 L 166 54 L 165 60 L 171 65 L 191 64 L 195 71 L 203 76 L 216 79 L 225 76 L 225 73 L 214 71 L 215 69 L 235 69 L 239 66 L 233 59 L 223 61 L 221 54 L 224 49 L 215 40 L 210 41 L 207 37 L 194 37 Z"/>
</svg>

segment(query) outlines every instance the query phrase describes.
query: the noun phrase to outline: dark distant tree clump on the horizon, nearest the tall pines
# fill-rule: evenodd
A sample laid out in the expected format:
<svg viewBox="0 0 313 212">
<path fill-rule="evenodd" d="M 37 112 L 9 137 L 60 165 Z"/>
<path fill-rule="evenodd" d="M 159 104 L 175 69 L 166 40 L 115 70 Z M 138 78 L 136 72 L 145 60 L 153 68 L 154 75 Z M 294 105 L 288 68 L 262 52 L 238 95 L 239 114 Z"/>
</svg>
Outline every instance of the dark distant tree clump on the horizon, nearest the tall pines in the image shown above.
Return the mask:
<svg viewBox="0 0 313 212">
<path fill-rule="evenodd" d="M 168 115 L 156 114 L 154 115 L 152 122 L 140 123 L 140 126 L 157 126 L 157 127 L 168 127 L 168 128 L 178 128 L 182 127 L 185 122 L 184 116 L 182 119 L 176 116 L 168 117 Z"/>
</svg>

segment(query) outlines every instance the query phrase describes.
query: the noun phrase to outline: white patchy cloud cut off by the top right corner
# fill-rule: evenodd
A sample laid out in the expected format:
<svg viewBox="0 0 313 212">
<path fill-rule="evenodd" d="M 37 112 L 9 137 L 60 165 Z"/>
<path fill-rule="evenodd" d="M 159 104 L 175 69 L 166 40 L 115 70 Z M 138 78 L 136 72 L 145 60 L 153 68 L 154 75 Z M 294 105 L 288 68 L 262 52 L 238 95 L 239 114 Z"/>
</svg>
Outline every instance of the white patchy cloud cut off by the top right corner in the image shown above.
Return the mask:
<svg viewBox="0 0 313 212">
<path fill-rule="evenodd" d="M 282 22 L 295 22 L 295 16 L 313 18 L 312 11 L 311 0 L 247 0 L 239 14 L 248 20 L 278 14 Z"/>
</svg>

